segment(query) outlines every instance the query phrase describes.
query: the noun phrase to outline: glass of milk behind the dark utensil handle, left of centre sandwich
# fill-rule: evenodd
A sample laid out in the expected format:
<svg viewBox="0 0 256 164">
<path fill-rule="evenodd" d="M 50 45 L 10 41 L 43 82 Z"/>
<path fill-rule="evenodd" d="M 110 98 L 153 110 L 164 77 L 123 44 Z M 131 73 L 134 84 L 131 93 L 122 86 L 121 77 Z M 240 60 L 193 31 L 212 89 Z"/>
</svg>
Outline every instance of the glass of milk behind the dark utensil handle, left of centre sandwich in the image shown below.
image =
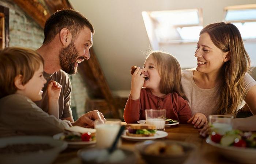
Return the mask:
<svg viewBox="0 0 256 164">
<path fill-rule="evenodd" d="M 109 148 L 117 133 L 121 127 L 121 120 L 119 119 L 107 119 L 95 120 L 94 128 L 96 129 L 96 147 L 97 148 Z M 121 141 L 118 141 L 117 147 L 121 145 Z"/>
</svg>

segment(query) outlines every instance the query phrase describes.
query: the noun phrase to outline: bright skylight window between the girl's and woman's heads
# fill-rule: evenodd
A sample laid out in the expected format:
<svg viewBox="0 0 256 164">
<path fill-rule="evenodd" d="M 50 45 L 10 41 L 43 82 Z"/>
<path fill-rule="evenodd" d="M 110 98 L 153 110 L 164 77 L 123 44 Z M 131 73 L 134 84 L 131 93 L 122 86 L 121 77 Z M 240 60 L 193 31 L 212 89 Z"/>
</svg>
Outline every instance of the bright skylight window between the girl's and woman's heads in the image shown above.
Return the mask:
<svg viewBox="0 0 256 164">
<path fill-rule="evenodd" d="M 158 44 L 197 42 L 203 28 L 201 9 L 143 11 L 142 16 L 151 44 L 156 43 L 151 39 Z"/>
</svg>

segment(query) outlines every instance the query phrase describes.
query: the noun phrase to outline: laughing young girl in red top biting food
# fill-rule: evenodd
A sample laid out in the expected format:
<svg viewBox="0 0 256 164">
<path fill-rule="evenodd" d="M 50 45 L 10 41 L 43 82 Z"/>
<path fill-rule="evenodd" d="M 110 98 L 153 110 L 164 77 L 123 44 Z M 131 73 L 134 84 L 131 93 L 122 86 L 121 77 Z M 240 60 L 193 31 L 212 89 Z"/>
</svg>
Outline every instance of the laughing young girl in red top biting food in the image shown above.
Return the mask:
<svg viewBox="0 0 256 164">
<path fill-rule="evenodd" d="M 166 117 L 186 124 L 191 118 L 188 102 L 182 98 L 181 67 L 174 56 L 155 51 L 149 54 L 143 69 L 132 75 L 131 93 L 124 109 L 124 120 L 145 120 L 145 109 L 166 109 Z M 142 88 L 143 87 L 143 88 Z"/>
</svg>

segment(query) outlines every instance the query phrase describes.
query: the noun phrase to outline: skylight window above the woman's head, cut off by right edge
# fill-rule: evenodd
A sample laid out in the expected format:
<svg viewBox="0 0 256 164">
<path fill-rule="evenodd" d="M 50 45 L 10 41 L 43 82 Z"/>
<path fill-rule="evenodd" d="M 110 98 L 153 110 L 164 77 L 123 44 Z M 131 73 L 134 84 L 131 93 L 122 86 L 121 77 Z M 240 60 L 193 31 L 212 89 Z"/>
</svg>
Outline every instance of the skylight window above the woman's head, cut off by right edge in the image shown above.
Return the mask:
<svg viewBox="0 0 256 164">
<path fill-rule="evenodd" d="M 256 4 L 226 7 L 225 20 L 238 28 L 243 39 L 256 39 Z"/>
</svg>

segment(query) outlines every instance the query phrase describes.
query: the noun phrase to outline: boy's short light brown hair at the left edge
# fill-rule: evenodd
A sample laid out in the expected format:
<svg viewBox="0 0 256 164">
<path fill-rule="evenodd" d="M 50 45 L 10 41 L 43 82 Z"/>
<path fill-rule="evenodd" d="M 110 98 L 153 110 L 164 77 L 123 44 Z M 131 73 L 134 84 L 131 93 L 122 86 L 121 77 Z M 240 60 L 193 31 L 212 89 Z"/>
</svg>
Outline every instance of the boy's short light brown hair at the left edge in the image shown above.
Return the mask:
<svg viewBox="0 0 256 164">
<path fill-rule="evenodd" d="M 33 50 L 20 47 L 4 48 L 0 52 L 0 98 L 17 91 L 14 84 L 17 75 L 22 75 L 23 85 L 29 82 L 40 64 L 44 66 L 44 59 Z"/>
</svg>

